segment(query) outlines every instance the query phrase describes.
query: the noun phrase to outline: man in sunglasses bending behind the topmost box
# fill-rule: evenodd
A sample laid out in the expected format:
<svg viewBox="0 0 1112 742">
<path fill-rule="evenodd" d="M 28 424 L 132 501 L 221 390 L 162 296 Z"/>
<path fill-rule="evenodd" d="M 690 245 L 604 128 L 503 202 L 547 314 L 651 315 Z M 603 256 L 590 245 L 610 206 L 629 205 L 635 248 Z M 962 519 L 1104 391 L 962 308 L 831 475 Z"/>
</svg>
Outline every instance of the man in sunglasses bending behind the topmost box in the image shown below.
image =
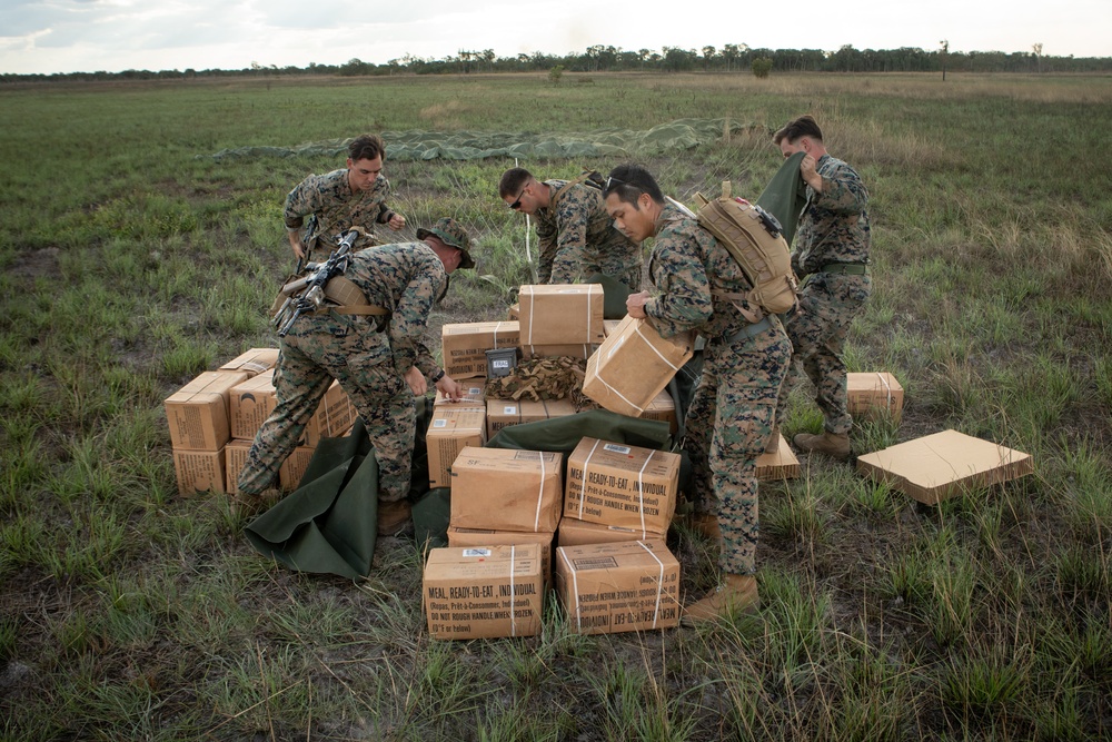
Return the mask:
<svg viewBox="0 0 1112 742">
<path fill-rule="evenodd" d="M 536 220 L 542 284 L 574 284 L 603 274 L 641 289 L 641 245 L 610 224 L 602 192 L 585 182 L 538 182 L 528 170 L 507 170 L 499 184 L 503 200 Z M 562 192 L 563 191 L 563 192 Z M 515 208 L 514 205 L 517 205 Z"/>
</svg>

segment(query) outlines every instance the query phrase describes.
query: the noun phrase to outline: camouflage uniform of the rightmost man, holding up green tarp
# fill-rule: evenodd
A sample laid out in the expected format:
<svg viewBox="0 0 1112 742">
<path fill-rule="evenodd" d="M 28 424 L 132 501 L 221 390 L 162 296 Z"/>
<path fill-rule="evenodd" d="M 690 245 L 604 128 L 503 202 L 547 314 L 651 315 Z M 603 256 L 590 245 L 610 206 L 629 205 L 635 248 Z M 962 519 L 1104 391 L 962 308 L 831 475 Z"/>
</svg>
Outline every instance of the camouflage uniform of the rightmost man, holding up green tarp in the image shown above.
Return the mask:
<svg viewBox="0 0 1112 742">
<path fill-rule="evenodd" d="M 793 354 L 817 389 L 826 431 L 847 434 L 853 419 L 846 408 L 842 352 L 853 318 L 872 290 L 868 263 L 868 191 L 848 165 L 824 155 L 816 171 L 822 192 L 807 187 L 792 268 L 804 280 L 801 311 L 788 321 Z M 784 405 L 776 413 L 784 419 Z"/>
</svg>

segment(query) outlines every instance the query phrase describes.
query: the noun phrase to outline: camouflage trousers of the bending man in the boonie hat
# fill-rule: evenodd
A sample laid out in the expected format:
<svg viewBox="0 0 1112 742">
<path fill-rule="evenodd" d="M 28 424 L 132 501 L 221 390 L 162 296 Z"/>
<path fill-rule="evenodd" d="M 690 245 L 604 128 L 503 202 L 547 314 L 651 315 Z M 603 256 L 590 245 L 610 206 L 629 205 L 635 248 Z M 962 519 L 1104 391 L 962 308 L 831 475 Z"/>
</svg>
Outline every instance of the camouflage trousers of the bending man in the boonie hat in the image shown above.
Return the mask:
<svg viewBox="0 0 1112 742">
<path fill-rule="evenodd" d="M 306 424 L 335 378 L 363 417 L 378 462 L 378 498 L 409 493 L 416 407 L 394 366 L 390 340 L 374 321 L 331 314 L 297 319 L 279 344 L 275 369 L 278 406 L 259 428 L 239 475 L 244 494 L 275 486 L 275 475 L 297 447 Z"/>
</svg>

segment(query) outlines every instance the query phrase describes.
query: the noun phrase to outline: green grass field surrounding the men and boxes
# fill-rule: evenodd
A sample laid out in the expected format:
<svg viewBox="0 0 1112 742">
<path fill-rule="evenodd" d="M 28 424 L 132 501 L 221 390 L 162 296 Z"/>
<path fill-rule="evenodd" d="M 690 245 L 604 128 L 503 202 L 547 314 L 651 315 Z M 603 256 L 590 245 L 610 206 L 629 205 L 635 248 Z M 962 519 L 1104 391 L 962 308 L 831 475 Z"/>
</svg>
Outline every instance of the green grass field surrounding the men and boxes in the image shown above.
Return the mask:
<svg viewBox="0 0 1112 742">
<path fill-rule="evenodd" d="M 1112 739 L 1112 78 L 467 76 L 0 88 L 0 739 Z M 919 506 L 846 465 L 762 485 L 762 611 L 699 630 L 429 641 L 421 556 L 294 573 L 227 497 L 177 495 L 162 400 L 275 343 L 286 191 L 340 158 L 209 157 L 363 131 L 753 125 L 643 158 L 691 202 L 780 166 L 811 111 L 868 185 L 874 294 L 851 370 L 902 425 L 1032 454 L 1034 476 Z M 523 162 L 545 177 L 617 161 Z M 433 318 L 526 280 L 507 160 L 387 162 L 410 225 L 477 237 Z M 411 229 L 403 237 L 411 237 Z M 821 416 L 800 385 L 788 437 Z M 707 544 L 679 528 L 683 588 Z"/>
</svg>

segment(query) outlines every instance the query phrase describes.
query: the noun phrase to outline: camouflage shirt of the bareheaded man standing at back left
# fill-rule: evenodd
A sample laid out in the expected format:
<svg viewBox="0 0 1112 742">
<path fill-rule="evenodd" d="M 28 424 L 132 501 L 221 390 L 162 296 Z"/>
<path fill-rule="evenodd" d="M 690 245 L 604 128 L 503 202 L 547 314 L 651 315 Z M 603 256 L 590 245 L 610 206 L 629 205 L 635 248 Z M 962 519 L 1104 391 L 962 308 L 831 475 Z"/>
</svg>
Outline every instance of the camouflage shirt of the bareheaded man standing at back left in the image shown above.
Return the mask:
<svg viewBox="0 0 1112 742">
<path fill-rule="evenodd" d="M 335 238 L 353 227 L 361 227 L 374 235 L 376 224 L 386 224 L 394 210 L 386 205 L 390 195 L 389 181 L 379 176 L 369 191 L 351 192 L 347 169 L 327 175 L 310 175 L 286 196 L 284 219 L 286 229 L 305 227 L 302 244 L 308 248 L 307 260 L 328 259 L 335 249 Z M 305 218 L 309 217 L 308 224 Z M 318 245 L 318 236 L 324 244 Z M 361 237 L 357 248 L 375 245 L 374 237 Z"/>
</svg>

